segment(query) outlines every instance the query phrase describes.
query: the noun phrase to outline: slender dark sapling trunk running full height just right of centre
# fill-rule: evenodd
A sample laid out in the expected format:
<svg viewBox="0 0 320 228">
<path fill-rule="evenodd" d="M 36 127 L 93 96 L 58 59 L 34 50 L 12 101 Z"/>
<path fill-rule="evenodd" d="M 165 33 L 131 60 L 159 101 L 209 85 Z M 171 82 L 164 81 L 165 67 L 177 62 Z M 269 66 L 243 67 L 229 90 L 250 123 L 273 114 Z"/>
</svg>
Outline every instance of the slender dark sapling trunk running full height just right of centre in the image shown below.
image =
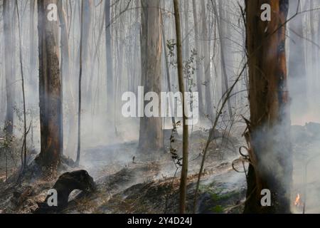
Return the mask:
<svg viewBox="0 0 320 228">
<path fill-rule="evenodd" d="M 178 0 L 174 0 L 174 16 L 176 22 L 176 53 L 178 63 L 178 83 L 179 90 L 182 94 L 182 109 L 183 109 L 183 138 L 182 138 L 182 170 L 180 181 L 180 213 L 186 213 L 186 187 L 188 180 L 188 125 L 186 124 L 185 106 L 186 100 L 184 97 L 185 88 L 183 80 L 183 55 L 182 55 L 182 39 L 181 39 L 181 19 L 178 7 Z"/>
</svg>

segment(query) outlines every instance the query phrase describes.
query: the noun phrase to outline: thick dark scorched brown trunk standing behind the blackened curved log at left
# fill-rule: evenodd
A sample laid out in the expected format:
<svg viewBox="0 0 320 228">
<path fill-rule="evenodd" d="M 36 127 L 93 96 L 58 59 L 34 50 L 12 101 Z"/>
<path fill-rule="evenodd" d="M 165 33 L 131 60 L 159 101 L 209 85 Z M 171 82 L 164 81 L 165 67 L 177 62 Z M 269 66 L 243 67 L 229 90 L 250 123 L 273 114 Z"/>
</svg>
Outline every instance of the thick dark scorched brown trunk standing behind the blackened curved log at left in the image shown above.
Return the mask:
<svg viewBox="0 0 320 228">
<path fill-rule="evenodd" d="M 48 4 L 38 1 L 39 99 L 41 152 L 37 161 L 53 170 L 60 163 L 61 89 L 59 69 L 58 21 L 48 21 Z"/>
</svg>

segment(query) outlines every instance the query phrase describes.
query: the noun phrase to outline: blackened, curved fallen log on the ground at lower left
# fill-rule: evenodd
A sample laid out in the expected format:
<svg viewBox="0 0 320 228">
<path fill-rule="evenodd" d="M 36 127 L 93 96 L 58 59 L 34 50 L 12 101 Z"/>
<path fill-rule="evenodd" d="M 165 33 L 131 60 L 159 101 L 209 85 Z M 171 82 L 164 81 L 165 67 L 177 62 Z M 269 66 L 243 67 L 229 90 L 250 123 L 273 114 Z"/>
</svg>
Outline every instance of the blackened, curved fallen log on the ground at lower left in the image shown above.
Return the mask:
<svg viewBox="0 0 320 228">
<path fill-rule="evenodd" d="M 51 195 L 48 195 L 44 202 L 37 202 L 38 208 L 34 214 L 60 213 L 68 207 L 68 198 L 73 190 L 81 190 L 86 194 L 95 191 L 95 182 L 85 170 L 74 172 L 65 172 L 61 175 L 51 190 L 57 192 L 57 204 L 50 206 L 48 201 Z"/>
</svg>

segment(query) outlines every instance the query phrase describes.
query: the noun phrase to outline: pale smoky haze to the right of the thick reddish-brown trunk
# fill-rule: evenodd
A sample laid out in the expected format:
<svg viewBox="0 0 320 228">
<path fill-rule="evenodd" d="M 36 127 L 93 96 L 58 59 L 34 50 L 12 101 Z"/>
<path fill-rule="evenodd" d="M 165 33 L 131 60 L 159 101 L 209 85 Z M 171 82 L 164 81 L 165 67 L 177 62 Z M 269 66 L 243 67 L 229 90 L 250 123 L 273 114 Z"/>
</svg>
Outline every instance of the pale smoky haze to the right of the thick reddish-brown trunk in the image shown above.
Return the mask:
<svg viewBox="0 0 320 228">
<path fill-rule="evenodd" d="M 297 10 L 298 1 L 289 1 L 290 15 Z M 299 11 L 316 9 L 319 3 L 302 1 Z M 292 202 L 299 194 L 302 205 L 292 211 L 319 213 L 320 172 L 320 90 L 319 90 L 319 20 L 317 14 L 299 14 L 289 23 L 288 76 L 291 98 L 293 186 Z M 310 124 L 311 123 L 311 124 Z"/>
</svg>

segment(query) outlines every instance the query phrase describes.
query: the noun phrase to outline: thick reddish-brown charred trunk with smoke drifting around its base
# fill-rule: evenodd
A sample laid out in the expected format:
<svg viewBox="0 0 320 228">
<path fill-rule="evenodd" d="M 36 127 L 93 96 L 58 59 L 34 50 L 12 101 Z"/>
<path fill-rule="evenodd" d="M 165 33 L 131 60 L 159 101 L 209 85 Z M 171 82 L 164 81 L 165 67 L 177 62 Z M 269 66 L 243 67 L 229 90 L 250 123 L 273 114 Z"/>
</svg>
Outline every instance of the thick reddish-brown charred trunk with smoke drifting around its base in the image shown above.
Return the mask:
<svg viewBox="0 0 320 228">
<path fill-rule="evenodd" d="M 271 6 L 271 21 L 257 17 Z M 289 213 L 292 152 L 289 140 L 289 94 L 285 38 L 288 0 L 246 0 L 250 80 L 250 166 L 245 212 Z M 271 192 L 271 207 L 262 207 L 261 191 Z"/>
</svg>

